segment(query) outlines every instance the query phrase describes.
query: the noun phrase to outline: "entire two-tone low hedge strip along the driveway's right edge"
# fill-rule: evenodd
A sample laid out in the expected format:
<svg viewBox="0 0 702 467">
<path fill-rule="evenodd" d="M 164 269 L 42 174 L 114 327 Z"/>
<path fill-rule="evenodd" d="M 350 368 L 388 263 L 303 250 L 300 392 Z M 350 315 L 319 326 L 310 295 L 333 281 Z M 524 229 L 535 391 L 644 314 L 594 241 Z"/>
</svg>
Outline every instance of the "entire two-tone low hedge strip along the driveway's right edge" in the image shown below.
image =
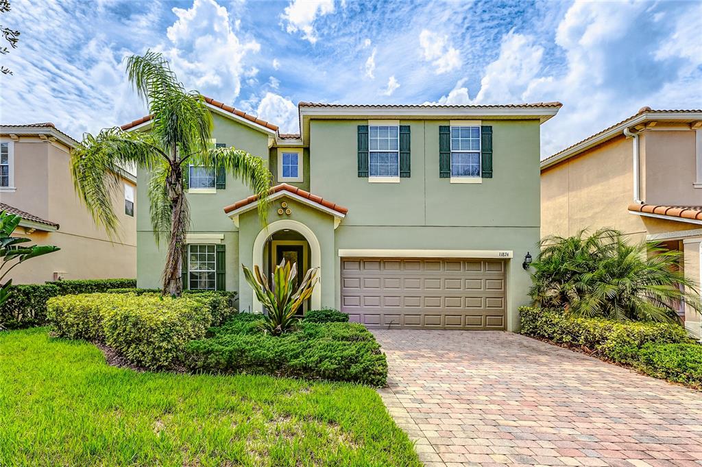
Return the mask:
<svg viewBox="0 0 702 467">
<path fill-rule="evenodd" d="M 527 336 L 585 347 L 595 355 L 670 381 L 702 381 L 702 346 L 680 324 L 617 322 L 531 307 L 519 308 L 519 316 L 522 334 Z"/>
</svg>

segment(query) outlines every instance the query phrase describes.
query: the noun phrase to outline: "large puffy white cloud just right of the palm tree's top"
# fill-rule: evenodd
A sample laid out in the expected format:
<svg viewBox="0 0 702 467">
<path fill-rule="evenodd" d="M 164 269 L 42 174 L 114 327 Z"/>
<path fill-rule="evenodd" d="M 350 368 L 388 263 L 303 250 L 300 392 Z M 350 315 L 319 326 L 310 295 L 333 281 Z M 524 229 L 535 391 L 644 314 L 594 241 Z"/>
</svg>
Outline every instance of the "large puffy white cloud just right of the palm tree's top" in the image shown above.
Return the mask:
<svg viewBox="0 0 702 467">
<path fill-rule="evenodd" d="M 241 77 L 254 77 L 256 67 L 244 71 L 246 58 L 260 50 L 256 40 L 241 41 L 230 22 L 227 8 L 215 0 L 194 0 L 190 9 L 173 8 L 178 20 L 168 27 L 170 46 L 162 46 L 171 67 L 187 87 L 234 100 Z"/>
</svg>

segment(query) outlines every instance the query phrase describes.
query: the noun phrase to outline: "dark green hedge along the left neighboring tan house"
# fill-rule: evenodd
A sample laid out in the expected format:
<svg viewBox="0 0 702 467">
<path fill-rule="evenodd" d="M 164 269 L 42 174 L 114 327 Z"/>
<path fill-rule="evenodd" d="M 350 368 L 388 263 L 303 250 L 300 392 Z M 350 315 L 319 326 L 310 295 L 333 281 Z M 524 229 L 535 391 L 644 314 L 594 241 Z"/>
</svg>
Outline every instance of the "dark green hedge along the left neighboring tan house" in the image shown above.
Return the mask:
<svg viewBox="0 0 702 467">
<path fill-rule="evenodd" d="M 46 284 L 13 285 L 10 298 L 0 307 L 0 329 L 46 324 L 46 301 L 67 294 L 87 294 L 136 287 L 136 279 L 62 280 Z"/>
</svg>

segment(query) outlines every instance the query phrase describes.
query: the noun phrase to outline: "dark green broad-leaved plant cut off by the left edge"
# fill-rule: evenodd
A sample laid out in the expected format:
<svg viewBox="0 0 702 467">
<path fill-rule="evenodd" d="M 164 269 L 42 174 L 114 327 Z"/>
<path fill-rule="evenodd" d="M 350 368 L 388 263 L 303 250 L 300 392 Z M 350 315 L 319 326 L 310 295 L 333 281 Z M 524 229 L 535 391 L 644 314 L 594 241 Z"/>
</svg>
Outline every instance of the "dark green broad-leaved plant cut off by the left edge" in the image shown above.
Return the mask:
<svg viewBox="0 0 702 467">
<path fill-rule="evenodd" d="M 15 231 L 22 218 L 15 214 L 0 211 L 0 306 L 7 301 L 11 294 L 12 279 L 3 282 L 6 275 L 9 274 L 15 266 L 20 265 L 30 258 L 53 253 L 58 251 L 58 246 L 51 245 L 22 245 L 22 243 L 31 242 L 31 239 L 26 237 L 13 237 L 12 232 Z"/>
</svg>

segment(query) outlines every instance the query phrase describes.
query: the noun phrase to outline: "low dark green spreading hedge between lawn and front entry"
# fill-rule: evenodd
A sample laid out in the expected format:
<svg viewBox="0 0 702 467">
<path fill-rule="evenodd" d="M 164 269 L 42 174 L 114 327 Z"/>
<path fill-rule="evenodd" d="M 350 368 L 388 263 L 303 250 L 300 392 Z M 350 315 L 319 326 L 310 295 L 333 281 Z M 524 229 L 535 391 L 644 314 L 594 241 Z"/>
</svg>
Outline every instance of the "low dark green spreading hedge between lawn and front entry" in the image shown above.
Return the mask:
<svg viewBox="0 0 702 467">
<path fill-rule="evenodd" d="M 255 373 L 384 386 L 388 362 L 365 327 L 300 322 L 282 336 L 260 331 L 261 315 L 239 313 L 211 329 L 211 338 L 186 346 L 190 371 Z"/>
</svg>

